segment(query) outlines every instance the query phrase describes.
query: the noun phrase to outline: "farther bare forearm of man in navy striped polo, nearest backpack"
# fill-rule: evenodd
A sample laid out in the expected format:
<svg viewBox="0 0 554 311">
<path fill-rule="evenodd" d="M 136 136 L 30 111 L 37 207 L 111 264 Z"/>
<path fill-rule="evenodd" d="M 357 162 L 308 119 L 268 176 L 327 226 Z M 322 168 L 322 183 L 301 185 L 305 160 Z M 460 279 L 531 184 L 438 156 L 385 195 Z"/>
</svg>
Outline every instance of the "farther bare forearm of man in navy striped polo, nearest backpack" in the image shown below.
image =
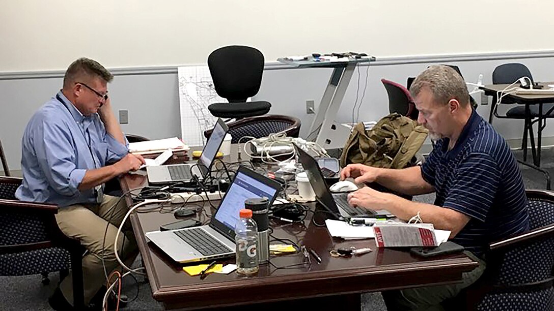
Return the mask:
<svg viewBox="0 0 554 311">
<path fill-rule="evenodd" d="M 408 195 L 426 194 L 434 191 L 433 186 L 423 179 L 419 166 L 404 169 L 380 169 L 375 182 L 386 186 L 388 189 Z"/>
</svg>

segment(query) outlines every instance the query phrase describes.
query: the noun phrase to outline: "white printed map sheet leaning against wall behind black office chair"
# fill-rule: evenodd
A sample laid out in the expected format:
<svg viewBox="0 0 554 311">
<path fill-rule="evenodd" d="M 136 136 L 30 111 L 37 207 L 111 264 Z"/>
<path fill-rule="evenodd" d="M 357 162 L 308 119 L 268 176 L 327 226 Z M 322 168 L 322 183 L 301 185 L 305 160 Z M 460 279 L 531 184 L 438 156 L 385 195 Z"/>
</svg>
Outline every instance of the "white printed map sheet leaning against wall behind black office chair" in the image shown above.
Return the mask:
<svg viewBox="0 0 554 311">
<path fill-rule="evenodd" d="M 178 68 L 181 137 L 188 146 L 203 146 L 204 131 L 212 129 L 217 118 L 208 111 L 214 102 L 227 102 L 216 93 L 207 65 Z"/>
</svg>

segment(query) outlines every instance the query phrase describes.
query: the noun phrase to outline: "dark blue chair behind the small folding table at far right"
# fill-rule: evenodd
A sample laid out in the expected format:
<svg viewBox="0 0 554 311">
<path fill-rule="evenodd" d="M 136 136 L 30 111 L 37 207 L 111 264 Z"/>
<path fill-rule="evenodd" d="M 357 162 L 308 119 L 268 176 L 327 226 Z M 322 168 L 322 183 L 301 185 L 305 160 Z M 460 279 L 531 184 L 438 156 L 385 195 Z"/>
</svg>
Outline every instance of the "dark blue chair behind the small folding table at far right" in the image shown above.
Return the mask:
<svg viewBox="0 0 554 311">
<path fill-rule="evenodd" d="M 512 84 L 519 80 L 521 77 L 529 77 L 533 81 L 531 71 L 527 66 L 520 63 L 502 64 L 497 66 L 493 71 L 493 84 Z M 527 160 L 527 135 L 531 138 L 532 146 L 535 144 L 533 125 L 538 123 L 537 137 L 542 134 L 542 128 L 546 126 L 546 118 L 554 117 L 554 103 L 542 104 L 542 112 L 540 104 L 529 105 L 530 116 L 526 116 L 525 105 L 515 105 L 510 108 L 505 115 L 498 113 L 497 96 L 493 96 L 493 102 L 489 114 L 489 123 L 493 123 L 493 115 L 497 118 L 517 119 L 524 120 L 524 132 L 521 142 L 521 149 L 523 149 L 524 161 Z M 501 104 L 517 104 L 509 97 L 502 97 Z M 537 151 L 538 152 L 538 151 Z"/>
</svg>

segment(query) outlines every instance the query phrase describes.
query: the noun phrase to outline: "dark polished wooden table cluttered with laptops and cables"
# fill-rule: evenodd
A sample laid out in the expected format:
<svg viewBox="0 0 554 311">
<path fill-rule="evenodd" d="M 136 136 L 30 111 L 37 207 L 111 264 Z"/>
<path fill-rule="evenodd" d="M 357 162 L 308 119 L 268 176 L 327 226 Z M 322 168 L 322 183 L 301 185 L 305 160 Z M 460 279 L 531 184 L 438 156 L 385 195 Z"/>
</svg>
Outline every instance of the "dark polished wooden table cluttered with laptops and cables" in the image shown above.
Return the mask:
<svg viewBox="0 0 554 311">
<path fill-rule="evenodd" d="M 139 188 L 147 185 L 147 178 L 125 175 L 121 178 L 121 185 L 125 191 Z M 130 200 L 127 202 L 132 204 Z M 316 208 L 315 204 L 310 206 Z M 313 248 L 321 257 L 321 264 L 312 259 L 311 266 L 288 269 L 262 265 L 253 277 L 240 276 L 235 272 L 228 275 L 212 273 L 201 280 L 183 272 L 181 265 L 145 239 L 145 232 L 158 230 L 161 224 L 175 221 L 172 213 L 134 213 L 130 219 L 152 296 L 162 302 L 166 309 L 226 307 L 225 310 L 259 310 L 266 307 L 266 303 L 272 303 L 272 307 L 280 308 L 360 310 L 360 293 L 458 282 L 461 273 L 478 266 L 465 255 L 423 260 L 406 251 L 377 248 L 373 239 L 334 239 L 326 227 L 317 227 L 311 222 L 309 213 L 304 224 L 272 221 L 273 236 Z M 322 222 L 321 219 L 317 221 Z M 334 258 L 329 255 L 332 248 L 348 246 L 370 247 L 373 251 L 352 258 Z M 271 257 L 270 261 L 275 266 L 283 267 L 303 263 L 305 258 L 297 253 Z M 234 263 L 234 259 L 227 263 Z"/>
</svg>

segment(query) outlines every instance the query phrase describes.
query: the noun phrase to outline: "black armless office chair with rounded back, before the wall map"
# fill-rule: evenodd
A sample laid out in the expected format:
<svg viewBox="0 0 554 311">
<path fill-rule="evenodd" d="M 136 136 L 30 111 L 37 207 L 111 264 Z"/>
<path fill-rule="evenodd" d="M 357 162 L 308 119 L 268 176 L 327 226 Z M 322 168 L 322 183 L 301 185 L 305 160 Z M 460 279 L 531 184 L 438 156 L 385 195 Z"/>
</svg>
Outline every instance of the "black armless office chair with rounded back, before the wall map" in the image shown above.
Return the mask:
<svg viewBox="0 0 554 311">
<path fill-rule="evenodd" d="M 269 102 L 247 102 L 260 90 L 264 55 L 259 50 L 242 45 L 224 46 L 208 56 L 208 67 L 217 94 L 229 101 L 209 105 L 213 116 L 245 118 L 269 112 Z"/>
</svg>

